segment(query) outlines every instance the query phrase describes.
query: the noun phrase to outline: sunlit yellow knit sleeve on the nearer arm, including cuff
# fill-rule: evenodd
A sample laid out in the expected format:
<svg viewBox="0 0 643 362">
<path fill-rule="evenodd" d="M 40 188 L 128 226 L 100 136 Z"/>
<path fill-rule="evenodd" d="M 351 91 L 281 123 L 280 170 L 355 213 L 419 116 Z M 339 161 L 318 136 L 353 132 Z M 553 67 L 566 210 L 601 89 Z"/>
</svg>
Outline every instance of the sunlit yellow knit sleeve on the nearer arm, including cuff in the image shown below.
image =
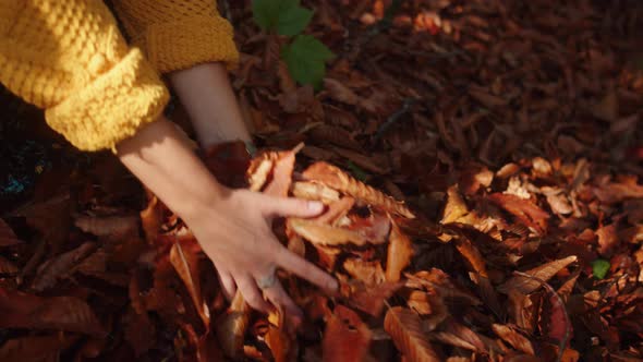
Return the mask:
<svg viewBox="0 0 643 362">
<path fill-rule="evenodd" d="M 169 98 L 95 0 L 0 0 L 0 82 L 84 150 L 113 149 Z"/>
</svg>

